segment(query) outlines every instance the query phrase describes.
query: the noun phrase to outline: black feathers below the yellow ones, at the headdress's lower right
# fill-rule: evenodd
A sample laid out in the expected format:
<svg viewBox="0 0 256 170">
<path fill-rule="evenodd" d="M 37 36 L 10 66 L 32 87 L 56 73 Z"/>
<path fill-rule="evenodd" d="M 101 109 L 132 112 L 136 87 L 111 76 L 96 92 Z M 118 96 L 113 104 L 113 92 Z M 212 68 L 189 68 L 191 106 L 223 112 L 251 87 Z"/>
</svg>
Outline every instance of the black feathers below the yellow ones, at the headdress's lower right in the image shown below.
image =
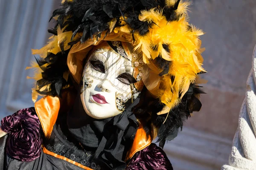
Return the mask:
<svg viewBox="0 0 256 170">
<path fill-rule="evenodd" d="M 179 129 L 182 130 L 183 123 L 190 117 L 190 113 L 200 110 L 201 102 L 198 97 L 200 94 L 204 94 L 200 88 L 198 85 L 191 84 L 181 103 L 172 109 L 169 114 L 162 115 L 157 115 L 157 113 L 163 109 L 164 105 L 160 104 L 159 99 L 147 94 L 146 88 L 143 88 L 140 95 L 145 97 L 140 100 L 133 112 L 148 135 L 153 137 L 152 125 L 158 129 L 157 141 L 162 142 L 161 146 L 163 146 L 165 140 L 174 139 Z"/>
</svg>

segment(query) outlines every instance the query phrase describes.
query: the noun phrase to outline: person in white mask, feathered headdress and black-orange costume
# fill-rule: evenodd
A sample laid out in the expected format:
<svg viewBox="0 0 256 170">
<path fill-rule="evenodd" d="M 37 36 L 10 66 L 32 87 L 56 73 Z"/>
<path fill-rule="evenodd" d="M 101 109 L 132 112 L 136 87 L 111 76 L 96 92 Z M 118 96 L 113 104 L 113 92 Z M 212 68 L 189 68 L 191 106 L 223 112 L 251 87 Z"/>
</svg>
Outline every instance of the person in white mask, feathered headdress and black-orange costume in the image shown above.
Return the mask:
<svg viewBox="0 0 256 170">
<path fill-rule="evenodd" d="M 32 50 L 35 107 L 1 121 L 0 169 L 172 170 L 163 145 L 200 110 L 205 73 L 188 5 L 63 0 Z"/>
</svg>

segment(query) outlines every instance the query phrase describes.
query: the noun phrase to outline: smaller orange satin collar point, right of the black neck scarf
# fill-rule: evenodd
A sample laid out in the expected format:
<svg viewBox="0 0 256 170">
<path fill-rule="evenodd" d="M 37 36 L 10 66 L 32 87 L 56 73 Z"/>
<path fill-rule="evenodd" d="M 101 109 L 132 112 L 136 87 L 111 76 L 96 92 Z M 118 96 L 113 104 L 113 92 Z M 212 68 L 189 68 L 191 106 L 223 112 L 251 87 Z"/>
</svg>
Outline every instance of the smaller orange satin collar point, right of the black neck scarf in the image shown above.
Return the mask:
<svg viewBox="0 0 256 170">
<path fill-rule="evenodd" d="M 126 161 L 131 159 L 135 153 L 148 147 L 152 142 L 151 136 L 147 135 L 142 125 L 137 130 L 131 149 L 127 153 Z"/>
</svg>

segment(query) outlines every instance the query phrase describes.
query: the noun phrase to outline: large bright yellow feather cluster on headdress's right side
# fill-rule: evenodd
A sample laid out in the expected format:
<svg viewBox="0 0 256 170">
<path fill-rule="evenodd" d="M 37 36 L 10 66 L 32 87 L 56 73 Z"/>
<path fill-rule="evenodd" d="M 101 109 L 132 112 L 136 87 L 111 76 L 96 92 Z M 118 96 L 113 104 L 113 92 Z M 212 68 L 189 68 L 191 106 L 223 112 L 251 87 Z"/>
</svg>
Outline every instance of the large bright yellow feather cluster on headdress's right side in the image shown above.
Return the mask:
<svg viewBox="0 0 256 170">
<path fill-rule="evenodd" d="M 166 5 L 172 6 L 175 2 L 176 0 L 168 0 Z M 143 62 L 146 64 L 154 63 L 156 57 L 170 61 L 169 73 L 162 76 L 159 82 L 154 82 L 160 84 L 157 97 L 169 109 L 179 104 L 180 99 L 188 91 L 190 83 L 195 82 L 197 74 L 205 71 L 202 68 L 203 58 L 199 39 L 199 36 L 204 33 L 194 26 L 189 26 L 188 6 L 189 2 L 180 2 L 176 12 L 182 15 L 179 20 L 171 22 L 166 20 L 161 9 L 153 8 L 142 11 L 139 20 L 150 23 L 151 27 L 149 32 L 143 36 L 135 31 L 135 42 L 132 42 L 134 49 L 142 52 Z M 122 27 L 115 28 L 114 32 L 125 35 L 131 34 L 133 30 L 124 24 Z M 169 52 L 163 48 L 163 45 L 168 45 Z M 173 82 L 171 76 L 175 77 Z"/>
</svg>

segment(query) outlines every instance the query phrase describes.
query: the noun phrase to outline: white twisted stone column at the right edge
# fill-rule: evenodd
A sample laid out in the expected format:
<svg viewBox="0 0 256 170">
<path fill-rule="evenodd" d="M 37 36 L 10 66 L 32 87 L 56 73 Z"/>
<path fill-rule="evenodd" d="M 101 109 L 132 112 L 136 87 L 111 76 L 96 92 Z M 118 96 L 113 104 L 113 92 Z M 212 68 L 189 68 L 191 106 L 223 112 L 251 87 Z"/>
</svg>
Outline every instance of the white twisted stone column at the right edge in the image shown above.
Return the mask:
<svg viewBox="0 0 256 170">
<path fill-rule="evenodd" d="M 221 170 L 256 170 L 256 46 L 246 84 L 247 92 L 241 106 L 229 162 Z"/>
</svg>

